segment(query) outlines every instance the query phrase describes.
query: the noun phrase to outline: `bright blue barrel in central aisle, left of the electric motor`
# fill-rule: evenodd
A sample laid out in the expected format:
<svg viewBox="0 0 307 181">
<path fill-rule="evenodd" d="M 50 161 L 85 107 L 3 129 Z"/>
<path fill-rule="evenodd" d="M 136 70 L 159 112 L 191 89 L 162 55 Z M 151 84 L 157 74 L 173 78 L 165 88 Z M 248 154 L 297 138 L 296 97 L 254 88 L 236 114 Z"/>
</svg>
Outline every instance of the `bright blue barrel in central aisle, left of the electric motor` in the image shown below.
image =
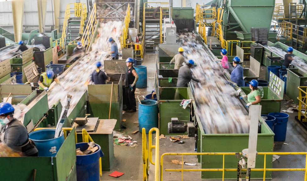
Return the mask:
<svg viewBox="0 0 307 181">
<path fill-rule="evenodd" d="M 139 104 L 139 131 L 146 129 L 146 134 L 154 127 L 158 127 L 158 102 L 154 100 L 142 100 Z"/>
</svg>

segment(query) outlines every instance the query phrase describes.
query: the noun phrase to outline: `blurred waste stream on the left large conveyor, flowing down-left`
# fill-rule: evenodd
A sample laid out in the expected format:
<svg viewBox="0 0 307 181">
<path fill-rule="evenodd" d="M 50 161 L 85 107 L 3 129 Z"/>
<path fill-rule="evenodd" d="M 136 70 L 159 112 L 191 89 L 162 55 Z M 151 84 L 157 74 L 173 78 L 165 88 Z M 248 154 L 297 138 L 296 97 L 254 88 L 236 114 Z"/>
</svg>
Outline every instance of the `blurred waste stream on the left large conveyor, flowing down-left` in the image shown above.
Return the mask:
<svg viewBox="0 0 307 181">
<path fill-rule="evenodd" d="M 76 104 L 79 102 L 79 99 L 87 90 L 87 85 L 91 83 L 90 76 L 96 69 L 96 62 L 101 61 L 101 64 L 103 65 L 103 60 L 106 60 L 106 57 L 109 56 L 111 45 L 108 42 L 108 39 L 112 37 L 118 44 L 118 48 L 120 48 L 119 37 L 121 30 L 121 21 L 109 21 L 107 23 L 100 24 L 100 28 L 98 29 L 97 33 L 98 36 L 96 37 L 95 42 L 91 45 L 91 51 L 76 61 L 72 69 L 58 76 L 62 86 L 56 84 L 55 82 L 50 86 L 47 92 L 49 108 L 51 108 L 52 105 L 57 104 L 59 100 L 61 101 L 63 107 L 66 106 L 67 94 L 69 94 L 72 96 L 72 98 L 68 115 L 71 113 Z M 64 110 L 65 109 L 62 110 L 61 115 L 64 113 Z M 24 114 L 20 115 L 21 117 L 18 119 L 23 121 Z"/>
</svg>

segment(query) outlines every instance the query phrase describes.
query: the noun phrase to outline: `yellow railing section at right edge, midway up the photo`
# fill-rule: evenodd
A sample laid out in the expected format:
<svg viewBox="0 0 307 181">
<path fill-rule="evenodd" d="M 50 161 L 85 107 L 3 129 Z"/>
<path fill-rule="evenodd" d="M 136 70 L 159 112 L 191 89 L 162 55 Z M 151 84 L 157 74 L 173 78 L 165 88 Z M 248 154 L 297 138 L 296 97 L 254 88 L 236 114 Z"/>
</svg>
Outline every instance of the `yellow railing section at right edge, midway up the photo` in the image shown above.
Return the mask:
<svg viewBox="0 0 307 181">
<path fill-rule="evenodd" d="M 297 97 L 297 99 L 299 100 L 299 112 L 298 112 L 298 120 L 301 120 L 302 116 L 304 116 L 304 118 L 302 119 L 302 122 L 307 122 L 307 86 L 300 86 L 298 87 L 299 89 L 299 97 Z"/>
</svg>

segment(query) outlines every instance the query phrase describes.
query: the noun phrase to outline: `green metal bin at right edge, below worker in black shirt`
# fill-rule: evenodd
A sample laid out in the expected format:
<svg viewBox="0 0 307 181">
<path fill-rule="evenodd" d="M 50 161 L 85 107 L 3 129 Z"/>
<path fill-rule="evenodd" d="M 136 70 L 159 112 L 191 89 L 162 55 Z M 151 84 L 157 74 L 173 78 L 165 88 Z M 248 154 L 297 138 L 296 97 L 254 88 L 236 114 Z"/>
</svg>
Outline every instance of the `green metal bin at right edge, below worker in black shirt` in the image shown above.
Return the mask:
<svg viewBox="0 0 307 181">
<path fill-rule="evenodd" d="M 298 68 L 287 69 L 287 89 L 286 95 L 298 104 L 297 97 L 299 97 L 299 86 L 307 86 L 307 73 Z"/>
</svg>

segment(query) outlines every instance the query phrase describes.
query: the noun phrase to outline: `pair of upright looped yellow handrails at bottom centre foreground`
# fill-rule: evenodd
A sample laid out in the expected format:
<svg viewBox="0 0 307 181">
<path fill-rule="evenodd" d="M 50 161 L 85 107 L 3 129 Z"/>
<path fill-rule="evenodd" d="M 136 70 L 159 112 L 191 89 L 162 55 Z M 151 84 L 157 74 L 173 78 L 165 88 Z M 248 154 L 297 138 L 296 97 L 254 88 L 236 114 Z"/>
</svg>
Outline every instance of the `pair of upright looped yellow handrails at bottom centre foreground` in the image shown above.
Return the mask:
<svg viewBox="0 0 307 181">
<path fill-rule="evenodd" d="M 152 134 L 156 131 L 156 142 L 155 145 L 152 145 Z M 151 128 L 148 132 L 148 146 L 146 138 L 146 130 L 142 128 L 142 149 L 143 149 L 143 180 L 147 181 L 149 176 L 149 163 L 155 165 L 155 181 L 159 180 L 159 169 L 160 169 L 160 160 L 159 160 L 159 136 L 160 131 L 158 128 Z M 152 160 L 152 150 L 155 149 L 155 162 Z M 162 180 L 161 180 L 162 181 Z"/>
</svg>

